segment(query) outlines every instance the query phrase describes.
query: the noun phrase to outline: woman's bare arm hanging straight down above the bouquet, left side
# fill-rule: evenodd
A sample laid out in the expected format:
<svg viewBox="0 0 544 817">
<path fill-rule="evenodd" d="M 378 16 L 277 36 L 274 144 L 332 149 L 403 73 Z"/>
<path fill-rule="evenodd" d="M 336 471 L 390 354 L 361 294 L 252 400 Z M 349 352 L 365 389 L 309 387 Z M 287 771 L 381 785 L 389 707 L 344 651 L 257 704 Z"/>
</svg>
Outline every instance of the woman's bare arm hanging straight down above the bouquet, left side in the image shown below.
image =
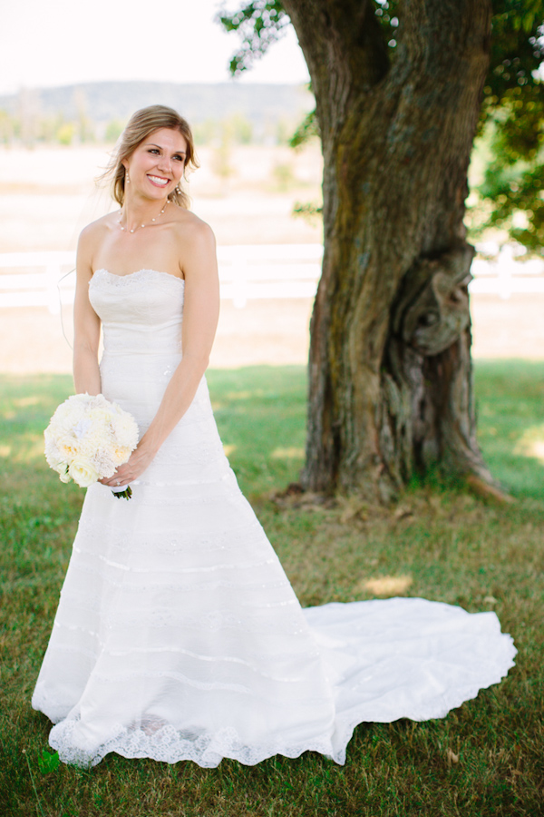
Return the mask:
<svg viewBox="0 0 544 817">
<path fill-rule="evenodd" d="M 92 278 L 92 226 L 83 230 L 77 248 L 73 302 L 73 383 L 76 394 L 100 394 L 98 344 L 100 319 L 89 300 Z"/>
</svg>

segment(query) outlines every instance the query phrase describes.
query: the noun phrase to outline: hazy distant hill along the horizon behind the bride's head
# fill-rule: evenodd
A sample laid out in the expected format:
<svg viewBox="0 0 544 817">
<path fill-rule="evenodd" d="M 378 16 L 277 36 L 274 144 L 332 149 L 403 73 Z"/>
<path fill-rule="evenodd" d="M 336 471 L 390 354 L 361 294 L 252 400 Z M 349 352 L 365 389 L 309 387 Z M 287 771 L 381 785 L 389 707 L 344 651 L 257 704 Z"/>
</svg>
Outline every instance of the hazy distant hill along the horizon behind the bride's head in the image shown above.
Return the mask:
<svg viewBox="0 0 544 817">
<path fill-rule="evenodd" d="M 63 85 L 24 90 L 0 96 L 0 110 L 17 114 L 29 107 L 41 116 L 62 114 L 74 120 L 82 112 L 95 123 L 126 121 L 145 105 L 160 103 L 175 108 L 189 123 L 223 120 L 242 114 L 257 130 L 279 120 L 293 121 L 311 110 L 314 99 L 303 85 L 287 84 L 177 84 L 108 82 Z"/>
</svg>

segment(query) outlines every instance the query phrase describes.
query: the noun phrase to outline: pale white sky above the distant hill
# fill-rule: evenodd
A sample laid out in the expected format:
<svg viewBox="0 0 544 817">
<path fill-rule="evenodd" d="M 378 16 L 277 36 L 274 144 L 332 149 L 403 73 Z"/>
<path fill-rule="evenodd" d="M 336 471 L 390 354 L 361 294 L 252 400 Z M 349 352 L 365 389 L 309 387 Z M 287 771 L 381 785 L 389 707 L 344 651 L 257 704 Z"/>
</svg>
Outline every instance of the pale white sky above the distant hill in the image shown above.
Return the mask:
<svg viewBox="0 0 544 817">
<path fill-rule="evenodd" d="M 213 22 L 236 0 L 3 0 L 0 94 L 106 80 L 228 82 L 237 34 Z M 306 83 L 292 26 L 241 80 Z"/>
</svg>

